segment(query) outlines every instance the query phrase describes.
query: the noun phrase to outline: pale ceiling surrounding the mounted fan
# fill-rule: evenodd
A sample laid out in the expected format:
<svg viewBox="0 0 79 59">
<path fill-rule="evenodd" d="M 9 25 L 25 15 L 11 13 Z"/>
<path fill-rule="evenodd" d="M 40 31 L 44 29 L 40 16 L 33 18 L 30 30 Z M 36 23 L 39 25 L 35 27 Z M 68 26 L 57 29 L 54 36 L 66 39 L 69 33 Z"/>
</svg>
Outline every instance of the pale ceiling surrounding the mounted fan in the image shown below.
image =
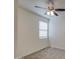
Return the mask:
<svg viewBox="0 0 79 59">
<path fill-rule="evenodd" d="M 52 17 L 59 17 L 59 16 L 48 16 L 44 13 L 46 10 L 35 8 L 34 6 L 41 6 L 47 8 L 47 0 L 18 0 L 19 6 L 34 12 L 38 15 L 41 15 L 43 17 L 46 17 L 48 19 Z M 65 8 L 65 0 L 54 0 L 54 8 Z M 60 16 L 65 15 L 65 12 L 57 12 Z"/>
</svg>

